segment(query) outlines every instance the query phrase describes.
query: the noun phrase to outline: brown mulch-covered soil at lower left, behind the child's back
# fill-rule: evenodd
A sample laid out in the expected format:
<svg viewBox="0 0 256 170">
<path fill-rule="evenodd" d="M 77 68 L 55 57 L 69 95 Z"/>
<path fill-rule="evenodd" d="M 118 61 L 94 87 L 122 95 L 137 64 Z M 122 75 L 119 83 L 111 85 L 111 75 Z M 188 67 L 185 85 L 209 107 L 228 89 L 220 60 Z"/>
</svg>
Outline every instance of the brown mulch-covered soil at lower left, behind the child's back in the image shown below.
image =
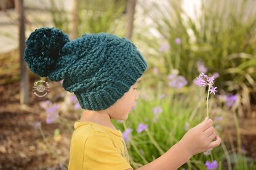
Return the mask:
<svg viewBox="0 0 256 170">
<path fill-rule="evenodd" d="M 30 87 L 33 87 L 31 80 Z M 30 88 L 30 91 L 32 88 Z M 38 98 L 30 93 L 31 104 L 19 104 L 19 83 L 0 86 L 0 169 L 66 169 L 68 166 L 71 133 L 75 121 L 69 117 L 70 129 L 58 123 L 47 124 Z M 60 115 L 61 116 L 61 115 Z M 42 133 L 34 128 L 34 122 L 41 122 Z M 60 140 L 54 140 L 54 130 L 60 129 Z M 46 142 L 54 149 L 49 152 Z M 60 164 L 63 162 L 63 165 Z"/>
</svg>

